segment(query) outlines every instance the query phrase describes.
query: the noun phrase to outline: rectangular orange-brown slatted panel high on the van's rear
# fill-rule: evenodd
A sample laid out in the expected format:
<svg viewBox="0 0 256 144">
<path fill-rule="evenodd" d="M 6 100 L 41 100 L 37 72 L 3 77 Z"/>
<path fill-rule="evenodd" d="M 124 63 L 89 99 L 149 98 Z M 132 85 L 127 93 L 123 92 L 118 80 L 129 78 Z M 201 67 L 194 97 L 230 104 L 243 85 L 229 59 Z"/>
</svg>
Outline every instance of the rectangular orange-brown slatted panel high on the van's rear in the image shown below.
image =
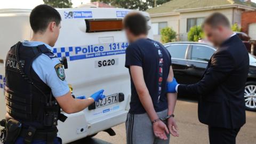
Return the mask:
<svg viewBox="0 0 256 144">
<path fill-rule="evenodd" d="M 86 33 L 119 31 L 123 29 L 122 19 L 86 19 L 85 22 Z"/>
</svg>

